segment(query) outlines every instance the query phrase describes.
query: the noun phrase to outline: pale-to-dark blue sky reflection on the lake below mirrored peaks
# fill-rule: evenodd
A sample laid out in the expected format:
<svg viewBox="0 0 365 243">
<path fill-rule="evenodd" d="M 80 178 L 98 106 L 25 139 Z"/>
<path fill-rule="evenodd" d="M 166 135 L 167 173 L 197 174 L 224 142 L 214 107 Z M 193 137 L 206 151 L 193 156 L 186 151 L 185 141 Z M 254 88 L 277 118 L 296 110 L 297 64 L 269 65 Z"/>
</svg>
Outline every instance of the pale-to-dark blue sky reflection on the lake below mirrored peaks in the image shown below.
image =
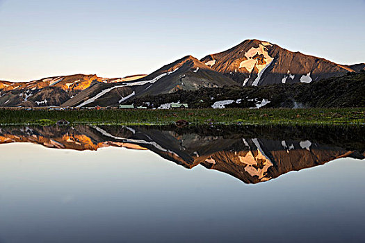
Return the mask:
<svg viewBox="0 0 365 243">
<path fill-rule="evenodd" d="M 150 151 L 2 144 L 0 154 L 0 242 L 345 241 L 365 226 L 360 160 L 245 185 Z"/>
</svg>

